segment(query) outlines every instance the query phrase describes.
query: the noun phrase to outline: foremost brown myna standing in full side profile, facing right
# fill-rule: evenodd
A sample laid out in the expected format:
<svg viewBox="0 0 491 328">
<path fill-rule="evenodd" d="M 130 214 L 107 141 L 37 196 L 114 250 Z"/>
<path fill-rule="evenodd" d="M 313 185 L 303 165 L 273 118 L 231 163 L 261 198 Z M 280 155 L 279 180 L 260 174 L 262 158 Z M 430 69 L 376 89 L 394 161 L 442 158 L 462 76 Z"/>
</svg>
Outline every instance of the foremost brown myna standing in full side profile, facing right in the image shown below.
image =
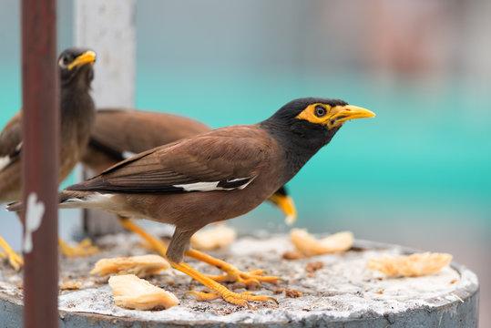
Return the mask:
<svg viewBox="0 0 491 328">
<path fill-rule="evenodd" d="M 193 251 L 190 237 L 211 222 L 253 210 L 292 179 L 344 122 L 372 117 L 370 110 L 342 100 L 296 99 L 261 123 L 219 128 L 139 153 L 62 191 L 60 207 L 171 223 L 176 230 L 167 258 L 172 267 L 211 290 L 195 292 L 200 299 L 220 296 L 238 305 L 269 301 L 268 296 L 231 292 L 190 267 L 183 261 Z M 12 204 L 8 210 L 21 208 Z M 217 266 L 225 272 L 232 268 L 231 274 L 247 274 L 224 261 Z"/>
</svg>

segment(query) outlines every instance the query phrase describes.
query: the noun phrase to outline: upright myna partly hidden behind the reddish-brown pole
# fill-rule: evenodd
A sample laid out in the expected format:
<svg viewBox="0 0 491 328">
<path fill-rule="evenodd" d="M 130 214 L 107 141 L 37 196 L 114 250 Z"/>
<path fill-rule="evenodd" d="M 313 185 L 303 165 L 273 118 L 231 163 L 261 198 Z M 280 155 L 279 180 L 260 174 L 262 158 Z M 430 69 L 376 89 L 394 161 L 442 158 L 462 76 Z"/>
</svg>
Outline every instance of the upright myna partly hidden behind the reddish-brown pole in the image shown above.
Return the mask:
<svg viewBox="0 0 491 328">
<path fill-rule="evenodd" d="M 94 51 L 80 48 L 66 49 L 58 57 L 61 87 L 59 182 L 75 167 L 87 147 L 95 118 L 94 101 L 89 94 L 95 61 Z M 0 203 L 22 197 L 22 151 L 22 114 L 18 113 L 0 133 Z M 18 269 L 22 265 L 20 256 L 2 238 L 0 247 L 7 253 L 11 265 Z"/>
</svg>

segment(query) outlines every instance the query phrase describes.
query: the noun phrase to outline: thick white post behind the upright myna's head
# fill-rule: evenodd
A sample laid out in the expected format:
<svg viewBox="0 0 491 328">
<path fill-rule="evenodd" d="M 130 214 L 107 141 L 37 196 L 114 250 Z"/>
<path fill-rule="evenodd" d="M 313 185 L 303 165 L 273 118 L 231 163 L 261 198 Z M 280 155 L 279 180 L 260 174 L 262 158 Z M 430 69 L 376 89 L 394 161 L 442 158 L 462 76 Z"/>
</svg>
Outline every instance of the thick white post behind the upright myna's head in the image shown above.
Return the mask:
<svg viewBox="0 0 491 328">
<path fill-rule="evenodd" d="M 75 44 L 97 52 L 93 96 L 97 108 L 134 108 L 136 77 L 136 0 L 75 0 Z M 87 177 L 84 174 L 83 177 Z M 90 235 L 118 231 L 116 218 L 84 211 Z"/>
</svg>

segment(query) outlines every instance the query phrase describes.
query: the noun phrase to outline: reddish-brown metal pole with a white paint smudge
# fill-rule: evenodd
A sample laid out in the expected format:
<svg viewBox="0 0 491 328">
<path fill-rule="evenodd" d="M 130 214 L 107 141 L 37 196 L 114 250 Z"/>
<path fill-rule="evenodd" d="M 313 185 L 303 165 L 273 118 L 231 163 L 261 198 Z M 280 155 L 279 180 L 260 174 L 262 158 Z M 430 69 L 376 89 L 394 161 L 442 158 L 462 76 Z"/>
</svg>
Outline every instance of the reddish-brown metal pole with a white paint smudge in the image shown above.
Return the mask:
<svg viewBox="0 0 491 328">
<path fill-rule="evenodd" d="M 24 326 L 57 327 L 56 0 L 22 1 Z"/>
</svg>

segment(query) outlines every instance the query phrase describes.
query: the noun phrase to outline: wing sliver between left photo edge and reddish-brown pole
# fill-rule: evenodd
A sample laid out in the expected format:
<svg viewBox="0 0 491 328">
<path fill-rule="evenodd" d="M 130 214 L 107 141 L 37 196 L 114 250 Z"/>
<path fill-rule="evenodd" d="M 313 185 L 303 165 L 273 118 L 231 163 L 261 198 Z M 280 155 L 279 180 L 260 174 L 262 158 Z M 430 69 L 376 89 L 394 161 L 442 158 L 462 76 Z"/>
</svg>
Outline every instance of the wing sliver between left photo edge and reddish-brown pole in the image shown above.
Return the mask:
<svg viewBox="0 0 491 328">
<path fill-rule="evenodd" d="M 22 118 L 15 115 L 0 132 L 0 171 L 20 159 L 22 148 Z"/>
</svg>

